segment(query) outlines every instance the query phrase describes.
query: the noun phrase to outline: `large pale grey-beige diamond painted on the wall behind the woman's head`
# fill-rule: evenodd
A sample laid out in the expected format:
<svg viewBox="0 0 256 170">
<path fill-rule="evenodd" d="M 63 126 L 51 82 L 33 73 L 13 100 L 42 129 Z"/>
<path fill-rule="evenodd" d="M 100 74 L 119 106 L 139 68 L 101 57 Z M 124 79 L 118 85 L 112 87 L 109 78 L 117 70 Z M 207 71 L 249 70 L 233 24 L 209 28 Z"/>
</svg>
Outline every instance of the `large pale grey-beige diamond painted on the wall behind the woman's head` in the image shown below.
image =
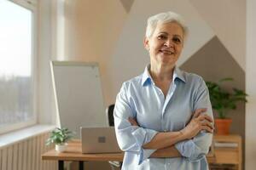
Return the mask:
<svg viewBox="0 0 256 170">
<path fill-rule="evenodd" d="M 106 70 L 109 71 L 108 75 L 111 75 L 108 78 L 109 83 L 112 83 L 110 87 L 113 88 L 113 94 L 118 93 L 122 82 L 140 74 L 149 62 L 148 54 L 143 48 L 148 17 L 170 10 L 183 15 L 189 26 L 189 37 L 184 44 L 183 53 L 177 65 L 182 65 L 214 37 L 212 28 L 201 18 L 189 0 L 134 1 L 125 20 L 119 41 L 107 64 Z M 120 70 L 123 70 L 123 74 L 119 74 Z"/>
</svg>

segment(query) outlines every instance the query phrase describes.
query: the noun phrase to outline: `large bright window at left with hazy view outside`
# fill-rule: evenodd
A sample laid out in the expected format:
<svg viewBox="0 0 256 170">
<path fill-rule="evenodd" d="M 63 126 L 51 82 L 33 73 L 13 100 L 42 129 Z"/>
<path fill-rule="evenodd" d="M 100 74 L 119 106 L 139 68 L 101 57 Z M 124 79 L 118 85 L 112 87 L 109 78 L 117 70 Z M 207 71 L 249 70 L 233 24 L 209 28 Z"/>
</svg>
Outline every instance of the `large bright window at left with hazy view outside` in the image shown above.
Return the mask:
<svg viewBox="0 0 256 170">
<path fill-rule="evenodd" d="M 35 9 L 0 0 L 0 133 L 36 122 Z"/>
</svg>

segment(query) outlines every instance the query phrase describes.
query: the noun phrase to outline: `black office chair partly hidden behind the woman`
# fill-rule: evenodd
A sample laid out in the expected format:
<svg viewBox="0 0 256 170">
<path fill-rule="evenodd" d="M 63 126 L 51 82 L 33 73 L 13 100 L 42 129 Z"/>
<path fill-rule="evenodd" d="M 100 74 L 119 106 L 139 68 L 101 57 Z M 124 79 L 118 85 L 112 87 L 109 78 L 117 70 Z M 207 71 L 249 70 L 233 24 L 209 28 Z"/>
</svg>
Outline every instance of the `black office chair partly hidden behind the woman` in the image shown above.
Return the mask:
<svg viewBox="0 0 256 170">
<path fill-rule="evenodd" d="M 113 122 L 113 109 L 114 109 L 114 105 L 109 105 L 108 108 L 106 109 L 106 114 L 108 116 L 108 126 L 109 127 L 113 127 L 114 126 L 114 122 Z M 111 169 L 114 170 L 115 167 L 119 167 L 121 168 L 122 163 L 119 161 L 108 161 Z"/>
</svg>

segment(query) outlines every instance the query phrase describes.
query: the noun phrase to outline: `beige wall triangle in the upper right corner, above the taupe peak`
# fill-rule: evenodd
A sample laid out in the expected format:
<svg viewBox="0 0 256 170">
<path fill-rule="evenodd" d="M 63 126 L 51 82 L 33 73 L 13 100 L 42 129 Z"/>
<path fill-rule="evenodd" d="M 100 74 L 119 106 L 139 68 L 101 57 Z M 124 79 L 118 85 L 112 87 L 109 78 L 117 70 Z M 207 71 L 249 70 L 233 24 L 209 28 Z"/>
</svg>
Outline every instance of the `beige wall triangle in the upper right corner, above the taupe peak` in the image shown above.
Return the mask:
<svg viewBox="0 0 256 170">
<path fill-rule="evenodd" d="M 189 1 L 245 71 L 246 1 Z"/>
</svg>

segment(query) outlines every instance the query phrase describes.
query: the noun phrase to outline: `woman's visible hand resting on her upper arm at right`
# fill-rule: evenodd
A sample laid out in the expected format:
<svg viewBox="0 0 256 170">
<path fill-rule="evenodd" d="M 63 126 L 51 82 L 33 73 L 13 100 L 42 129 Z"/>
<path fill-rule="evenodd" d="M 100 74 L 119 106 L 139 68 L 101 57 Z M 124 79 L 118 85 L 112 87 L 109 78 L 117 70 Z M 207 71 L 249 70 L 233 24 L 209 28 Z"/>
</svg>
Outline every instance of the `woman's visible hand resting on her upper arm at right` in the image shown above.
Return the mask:
<svg viewBox="0 0 256 170">
<path fill-rule="evenodd" d="M 205 111 L 207 109 L 196 110 L 187 126 L 180 131 L 186 139 L 194 138 L 201 130 L 213 133 L 212 117 L 203 114 Z"/>
</svg>

